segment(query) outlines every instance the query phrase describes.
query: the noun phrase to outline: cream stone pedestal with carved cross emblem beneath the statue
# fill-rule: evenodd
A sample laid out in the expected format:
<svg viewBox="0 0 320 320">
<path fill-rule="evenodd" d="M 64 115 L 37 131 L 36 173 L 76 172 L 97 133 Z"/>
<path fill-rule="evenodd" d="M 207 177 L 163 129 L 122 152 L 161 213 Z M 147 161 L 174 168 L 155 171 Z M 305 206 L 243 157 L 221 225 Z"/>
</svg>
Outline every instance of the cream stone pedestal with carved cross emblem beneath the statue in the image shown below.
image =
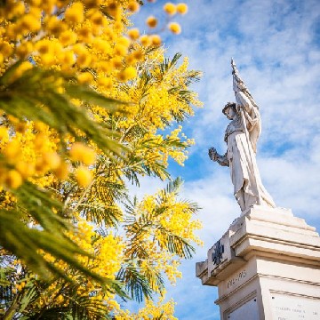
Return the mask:
<svg viewBox="0 0 320 320">
<path fill-rule="evenodd" d="M 254 206 L 196 263 L 222 320 L 319 320 L 320 237 L 283 208 Z"/>
</svg>

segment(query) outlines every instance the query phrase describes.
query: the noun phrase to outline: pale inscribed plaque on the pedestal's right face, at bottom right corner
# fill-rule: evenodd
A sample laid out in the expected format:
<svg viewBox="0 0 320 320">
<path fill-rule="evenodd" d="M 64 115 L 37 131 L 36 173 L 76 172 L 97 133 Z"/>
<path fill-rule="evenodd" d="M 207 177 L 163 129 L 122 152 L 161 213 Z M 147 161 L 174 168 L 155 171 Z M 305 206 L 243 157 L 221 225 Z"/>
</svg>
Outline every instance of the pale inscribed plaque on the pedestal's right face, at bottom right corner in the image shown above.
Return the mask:
<svg viewBox="0 0 320 320">
<path fill-rule="evenodd" d="M 319 320 L 320 300 L 271 292 L 275 320 Z"/>
</svg>

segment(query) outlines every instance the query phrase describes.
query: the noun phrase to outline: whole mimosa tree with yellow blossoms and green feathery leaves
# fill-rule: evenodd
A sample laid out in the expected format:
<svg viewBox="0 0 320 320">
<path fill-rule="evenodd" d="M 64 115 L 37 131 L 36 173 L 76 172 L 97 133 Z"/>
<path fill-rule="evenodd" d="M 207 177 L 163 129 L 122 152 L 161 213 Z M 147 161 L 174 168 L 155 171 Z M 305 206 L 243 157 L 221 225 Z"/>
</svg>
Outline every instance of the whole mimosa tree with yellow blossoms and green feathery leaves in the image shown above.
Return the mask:
<svg viewBox="0 0 320 320">
<path fill-rule="evenodd" d="M 180 54 L 164 58 L 160 36 L 128 27 L 139 7 L 0 4 L 4 319 L 174 318 L 164 276 L 181 276 L 201 226 L 168 164 L 182 165 L 194 143 L 180 124 L 200 105 L 188 89 L 200 74 Z M 149 28 L 156 22 L 149 17 Z M 175 22 L 168 27 L 180 32 Z M 138 200 L 127 187 L 143 176 L 167 187 Z M 145 298 L 146 307 L 131 314 L 121 298 Z"/>
</svg>

